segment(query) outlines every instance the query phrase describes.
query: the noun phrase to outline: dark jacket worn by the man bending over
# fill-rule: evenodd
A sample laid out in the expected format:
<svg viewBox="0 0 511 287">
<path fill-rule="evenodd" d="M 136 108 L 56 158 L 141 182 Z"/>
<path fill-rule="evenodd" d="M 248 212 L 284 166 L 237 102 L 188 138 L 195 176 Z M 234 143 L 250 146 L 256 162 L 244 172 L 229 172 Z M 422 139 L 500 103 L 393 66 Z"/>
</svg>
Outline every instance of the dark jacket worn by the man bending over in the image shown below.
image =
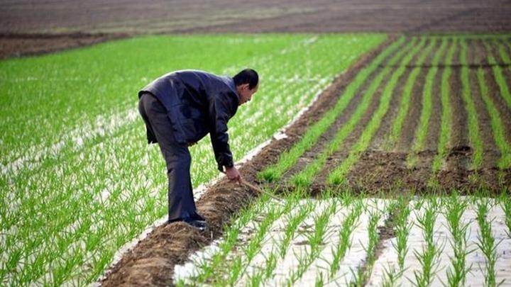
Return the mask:
<svg viewBox="0 0 511 287">
<path fill-rule="evenodd" d="M 232 78 L 182 70 L 155 79 L 138 92 L 138 98 L 145 92 L 165 106 L 177 142 L 198 142 L 209 133 L 219 169 L 233 166 L 227 122 L 238 109 L 239 96 Z M 148 136 L 148 142 L 156 139 Z"/>
</svg>

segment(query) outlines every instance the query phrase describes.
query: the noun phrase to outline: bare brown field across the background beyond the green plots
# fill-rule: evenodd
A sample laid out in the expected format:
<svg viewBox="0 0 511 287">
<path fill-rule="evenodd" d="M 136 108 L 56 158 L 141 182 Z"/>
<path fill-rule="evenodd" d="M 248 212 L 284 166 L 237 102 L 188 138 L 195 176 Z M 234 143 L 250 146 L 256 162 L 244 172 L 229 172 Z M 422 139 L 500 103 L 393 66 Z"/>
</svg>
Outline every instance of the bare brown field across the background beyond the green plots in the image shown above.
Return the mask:
<svg viewBox="0 0 511 287">
<path fill-rule="evenodd" d="M 509 15 L 505 0 L 4 1 L 0 58 L 147 33 L 509 33 Z"/>
</svg>

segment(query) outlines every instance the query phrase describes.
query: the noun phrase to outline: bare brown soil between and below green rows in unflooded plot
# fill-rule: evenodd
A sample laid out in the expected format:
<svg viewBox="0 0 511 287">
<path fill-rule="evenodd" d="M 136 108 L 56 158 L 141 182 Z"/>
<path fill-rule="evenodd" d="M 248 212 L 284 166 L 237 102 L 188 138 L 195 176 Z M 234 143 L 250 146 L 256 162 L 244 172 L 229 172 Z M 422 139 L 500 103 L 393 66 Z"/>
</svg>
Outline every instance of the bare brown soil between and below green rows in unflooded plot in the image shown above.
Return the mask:
<svg viewBox="0 0 511 287">
<path fill-rule="evenodd" d="M 438 46 L 436 47 L 438 48 Z M 449 139 L 449 152 L 446 156 L 445 162 L 441 171 L 434 174 L 432 173 L 431 166 L 436 157 L 436 150 L 439 139 L 440 125 L 441 125 L 441 75 L 444 72 L 446 63 L 444 57 L 441 58 L 442 67 L 439 67 L 434 78 L 434 86 L 432 89 L 432 105 L 433 114 L 429 120 L 428 136 L 424 150 L 417 152 L 417 163 L 410 167 L 407 163 L 407 158 L 410 156 L 410 150 L 414 142 L 414 137 L 417 132 L 417 124 L 419 114 L 422 109 L 422 88 L 414 89 L 412 95 L 412 103 L 410 103 L 410 113 L 408 113 L 407 120 L 405 121 L 404 130 L 400 142 L 400 147 L 395 150 L 381 149 L 382 137 L 385 137 L 389 131 L 392 119 L 397 113 L 396 108 L 389 108 L 388 114 L 383 118 L 380 123 L 380 128 L 372 140 L 370 148 L 366 152 L 362 152 L 358 162 L 354 164 L 353 168 L 346 176 L 344 184 L 338 186 L 331 186 L 326 184 L 328 175 L 331 170 L 338 167 L 346 157 L 361 131 L 366 127 L 368 120 L 373 115 L 379 101 L 373 99 L 370 104 L 368 112 L 364 115 L 363 120 L 358 123 L 356 130 L 346 139 L 344 145 L 339 152 L 333 154 L 327 160 L 327 163 L 322 171 L 319 172 L 315 178 L 314 184 L 309 190 L 312 196 L 319 196 L 327 188 L 338 189 L 351 189 L 353 191 L 363 191 L 366 193 L 380 193 L 382 191 L 392 192 L 409 192 L 415 191 L 417 193 L 431 193 L 431 192 L 444 192 L 449 191 L 451 188 L 461 190 L 461 192 L 471 193 L 479 188 L 484 188 L 489 191 L 500 192 L 505 188 L 511 186 L 510 170 L 499 170 L 497 168 L 498 159 L 500 159 L 500 152 L 495 145 L 493 129 L 490 123 L 490 116 L 485 107 L 485 103 L 480 96 L 478 89 L 478 81 L 476 78 L 476 70 L 484 64 L 488 64 L 485 57 L 481 55 L 482 50 L 477 48 L 477 45 L 469 45 L 468 56 L 473 61 L 469 67 L 471 76 L 471 98 L 476 106 L 478 113 L 478 131 L 483 139 L 483 165 L 478 170 L 473 170 L 471 166 L 473 149 L 471 142 L 468 138 L 468 118 L 466 105 L 462 99 L 461 88 L 461 66 L 451 65 L 452 74 L 450 81 L 450 98 L 451 101 L 451 138 Z M 458 52 L 454 54 L 454 62 L 458 61 Z M 444 56 L 446 53 L 444 52 Z M 485 62 L 486 61 L 486 62 Z M 395 68 L 397 69 L 397 67 Z M 424 83 L 427 70 L 429 67 L 422 68 L 422 73 L 419 74 L 416 83 Z M 488 68 L 487 68 L 488 69 Z M 410 71 L 409 71 L 410 72 Z M 382 86 L 385 86 L 385 79 Z M 403 84 L 400 81 L 400 84 Z M 364 88 L 361 88 L 362 90 Z M 380 88 L 381 89 L 381 88 Z M 397 88 L 395 95 L 400 95 L 400 90 Z M 498 91 L 498 86 L 493 82 L 490 86 L 490 94 L 495 95 Z M 380 97 L 380 90 L 375 96 Z M 394 96 L 395 96 L 394 95 Z M 395 104 L 394 98 L 391 103 Z M 502 105 L 501 105 L 502 106 Z M 505 105 L 503 106 L 506 107 Z M 500 107 L 502 110 L 502 107 Z M 507 112 L 508 113 L 508 112 Z M 509 118 L 503 120 L 504 123 L 509 123 Z M 509 130 L 510 127 L 505 127 Z M 314 158 L 314 154 L 319 154 L 322 151 L 324 144 L 319 142 L 316 147 L 307 153 L 307 162 Z M 318 148 L 317 148 L 318 147 Z M 305 164 L 302 164 L 305 165 Z"/>
</svg>

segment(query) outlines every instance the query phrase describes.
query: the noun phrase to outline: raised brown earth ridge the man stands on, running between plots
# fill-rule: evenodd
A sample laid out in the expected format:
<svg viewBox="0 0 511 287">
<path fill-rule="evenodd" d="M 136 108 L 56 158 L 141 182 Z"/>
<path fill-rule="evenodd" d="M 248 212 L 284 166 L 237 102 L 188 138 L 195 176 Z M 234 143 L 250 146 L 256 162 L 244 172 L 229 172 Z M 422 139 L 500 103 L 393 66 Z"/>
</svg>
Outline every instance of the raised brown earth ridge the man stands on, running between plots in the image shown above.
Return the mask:
<svg viewBox="0 0 511 287">
<path fill-rule="evenodd" d="M 319 99 L 299 120 L 285 133 L 287 138 L 275 140 L 265 147 L 250 162 L 243 164 L 240 171 L 243 178 L 253 184 L 258 183 L 256 174 L 268 164 L 278 159 L 278 154 L 295 142 L 305 133 L 310 123 L 317 121 L 329 109 L 331 102 L 336 101 L 340 91 L 353 79 L 354 75 L 393 38 L 378 49 L 358 60 L 348 72 L 339 76 Z M 257 194 L 246 186 L 238 186 L 226 179 L 211 186 L 197 201 L 197 210 L 206 218 L 208 228 L 205 232 L 197 232 L 183 223 L 165 224 L 156 227 L 136 247 L 124 254 L 108 275 L 101 282 L 103 286 L 172 286 L 172 276 L 176 264 L 185 263 L 189 254 L 197 251 L 221 235 L 222 227 L 229 223 L 231 216 L 238 210 L 248 206 Z"/>
</svg>

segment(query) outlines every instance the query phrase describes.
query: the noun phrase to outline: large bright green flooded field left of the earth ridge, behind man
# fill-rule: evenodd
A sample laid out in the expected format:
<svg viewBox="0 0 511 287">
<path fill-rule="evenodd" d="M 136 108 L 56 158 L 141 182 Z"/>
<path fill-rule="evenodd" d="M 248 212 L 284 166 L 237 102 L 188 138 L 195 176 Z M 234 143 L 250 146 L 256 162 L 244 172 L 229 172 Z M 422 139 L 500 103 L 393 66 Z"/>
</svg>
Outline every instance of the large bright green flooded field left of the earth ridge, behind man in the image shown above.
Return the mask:
<svg viewBox="0 0 511 287">
<path fill-rule="evenodd" d="M 1 284 L 95 281 L 116 250 L 165 216 L 165 166 L 136 110 L 151 79 L 257 69 L 258 96 L 229 123 L 239 157 L 386 38 L 150 36 L 0 62 Z M 207 140 L 191 149 L 194 187 L 217 176 L 210 150 Z"/>
</svg>

